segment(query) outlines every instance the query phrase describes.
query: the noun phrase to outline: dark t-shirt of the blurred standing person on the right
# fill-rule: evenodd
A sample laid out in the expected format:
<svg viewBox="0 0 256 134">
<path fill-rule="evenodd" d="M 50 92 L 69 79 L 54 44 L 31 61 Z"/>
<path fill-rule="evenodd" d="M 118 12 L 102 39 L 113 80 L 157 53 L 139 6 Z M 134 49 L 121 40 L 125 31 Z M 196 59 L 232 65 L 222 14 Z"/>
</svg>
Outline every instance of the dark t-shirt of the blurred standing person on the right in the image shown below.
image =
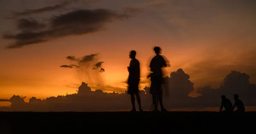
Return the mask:
<svg viewBox="0 0 256 134">
<path fill-rule="evenodd" d="M 151 68 L 151 71 L 153 73 L 162 74 L 162 67 L 166 67 L 166 61 L 163 59 L 163 56 L 156 55 L 154 58 L 150 61 L 149 67 Z"/>
</svg>

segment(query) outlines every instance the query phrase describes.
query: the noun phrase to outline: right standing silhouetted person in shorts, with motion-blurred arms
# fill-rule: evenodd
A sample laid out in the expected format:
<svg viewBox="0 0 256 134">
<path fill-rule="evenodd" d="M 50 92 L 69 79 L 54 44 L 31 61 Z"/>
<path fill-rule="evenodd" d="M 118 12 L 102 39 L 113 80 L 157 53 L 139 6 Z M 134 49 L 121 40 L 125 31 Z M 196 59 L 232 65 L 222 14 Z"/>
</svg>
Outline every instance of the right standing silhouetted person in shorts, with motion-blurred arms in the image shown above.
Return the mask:
<svg viewBox="0 0 256 134">
<path fill-rule="evenodd" d="M 166 61 L 163 59 L 163 56 L 161 56 L 161 48 L 160 47 L 154 47 L 154 51 L 156 53 L 156 56 L 151 60 L 150 62 L 150 70 L 151 73 L 148 75 L 151 80 L 151 86 L 150 86 L 150 93 L 152 94 L 153 98 L 153 105 L 154 105 L 154 111 L 159 111 L 157 109 L 158 101 L 161 106 L 161 111 L 167 111 L 163 106 L 163 73 L 162 73 L 162 67 L 167 67 Z"/>
</svg>

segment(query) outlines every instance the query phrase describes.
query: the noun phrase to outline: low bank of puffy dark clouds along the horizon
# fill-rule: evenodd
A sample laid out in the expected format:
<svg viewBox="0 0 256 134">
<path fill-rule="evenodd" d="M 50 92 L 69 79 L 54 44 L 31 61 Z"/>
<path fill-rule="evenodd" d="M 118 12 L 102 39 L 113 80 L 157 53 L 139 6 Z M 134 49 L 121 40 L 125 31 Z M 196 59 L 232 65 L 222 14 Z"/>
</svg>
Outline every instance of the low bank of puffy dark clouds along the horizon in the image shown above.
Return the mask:
<svg viewBox="0 0 256 134">
<path fill-rule="evenodd" d="M 231 71 L 223 79 L 221 86 L 213 89 L 210 86 L 198 88 L 201 95 L 192 98 L 189 93 L 194 90 L 190 76 L 182 69 L 172 72 L 165 78 L 165 85 L 169 89 L 169 95 L 164 98 L 164 105 L 167 109 L 175 108 L 203 108 L 216 107 L 221 104 L 221 95 L 226 95 L 232 103 L 233 95 L 239 94 L 239 98 L 245 106 L 256 105 L 256 85 L 251 84 L 250 76 L 246 73 Z M 149 87 L 140 90 L 143 109 L 151 110 L 152 101 L 149 94 Z M 20 111 L 118 111 L 131 109 L 130 96 L 126 93 L 106 93 L 101 89 L 92 91 L 88 84 L 82 82 L 76 94 L 49 97 L 44 100 L 32 97 L 29 102 L 24 101 L 25 97 L 13 95 L 10 98 L 12 103 L 8 110 Z M 2 107 L 6 109 L 6 107 Z"/>
</svg>

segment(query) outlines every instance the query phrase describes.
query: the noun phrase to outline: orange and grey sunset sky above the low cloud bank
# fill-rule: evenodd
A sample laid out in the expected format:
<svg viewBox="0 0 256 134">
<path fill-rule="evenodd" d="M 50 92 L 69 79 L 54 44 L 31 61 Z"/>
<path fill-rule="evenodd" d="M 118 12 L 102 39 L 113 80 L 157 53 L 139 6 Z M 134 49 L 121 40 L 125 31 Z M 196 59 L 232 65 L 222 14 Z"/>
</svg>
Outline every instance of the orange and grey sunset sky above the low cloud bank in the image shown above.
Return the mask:
<svg viewBox="0 0 256 134">
<path fill-rule="evenodd" d="M 83 18 L 86 13 L 76 12 L 95 9 L 104 10 L 92 21 L 92 16 Z M 65 14 L 69 16 L 61 18 Z M 30 29 L 19 25 L 28 18 L 38 25 Z M 163 49 L 172 65 L 166 68 L 168 75 L 182 68 L 195 89 L 208 84 L 218 87 L 231 70 L 247 73 L 256 83 L 255 0 L 0 0 L 0 23 L 3 99 L 72 94 L 82 81 L 92 89 L 124 92 L 130 50 L 137 51 L 143 89 L 148 86 L 143 81 L 154 46 Z M 54 31 L 59 25 L 66 29 Z M 36 33 L 39 26 L 43 32 Z M 29 30 L 34 30 L 34 43 L 28 43 L 26 34 L 13 36 Z M 91 70 L 90 81 L 76 68 L 60 67 L 73 64 L 67 56 L 96 53 L 105 72 Z M 99 86 L 93 81 L 99 81 Z"/>
</svg>

